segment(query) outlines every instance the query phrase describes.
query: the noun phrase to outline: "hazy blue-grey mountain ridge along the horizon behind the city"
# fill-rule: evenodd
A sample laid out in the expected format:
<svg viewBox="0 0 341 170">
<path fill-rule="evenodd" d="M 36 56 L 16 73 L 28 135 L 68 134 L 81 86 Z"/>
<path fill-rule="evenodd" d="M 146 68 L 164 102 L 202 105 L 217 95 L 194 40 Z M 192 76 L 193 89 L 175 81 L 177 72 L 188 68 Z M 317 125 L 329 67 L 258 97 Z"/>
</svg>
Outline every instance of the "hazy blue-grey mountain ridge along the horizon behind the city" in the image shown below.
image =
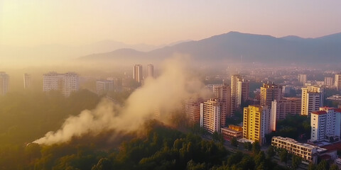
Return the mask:
<svg viewBox="0 0 341 170">
<path fill-rule="evenodd" d="M 163 60 L 173 54 L 192 55 L 197 61 L 239 62 L 341 62 L 341 33 L 320 38 L 300 38 L 229 32 L 197 41 L 181 42 L 149 52 L 114 50 L 80 57 L 81 60 Z"/>
</svg>

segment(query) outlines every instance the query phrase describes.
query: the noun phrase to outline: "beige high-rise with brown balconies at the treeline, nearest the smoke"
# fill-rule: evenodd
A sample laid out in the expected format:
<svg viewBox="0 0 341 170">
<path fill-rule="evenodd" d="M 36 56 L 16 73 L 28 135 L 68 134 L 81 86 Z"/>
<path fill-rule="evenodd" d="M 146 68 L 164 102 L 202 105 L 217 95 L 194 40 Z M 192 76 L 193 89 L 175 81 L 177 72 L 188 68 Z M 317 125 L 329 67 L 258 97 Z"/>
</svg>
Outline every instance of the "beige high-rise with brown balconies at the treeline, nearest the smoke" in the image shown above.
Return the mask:
<svg viewBox="0 0 341 170">
<path fill-rule="evenodd" d="M 210 101 L 200 103 L 200 127 L 210 133 L 220 132 L 219 99 L 211 98 Z"/>
</svg>

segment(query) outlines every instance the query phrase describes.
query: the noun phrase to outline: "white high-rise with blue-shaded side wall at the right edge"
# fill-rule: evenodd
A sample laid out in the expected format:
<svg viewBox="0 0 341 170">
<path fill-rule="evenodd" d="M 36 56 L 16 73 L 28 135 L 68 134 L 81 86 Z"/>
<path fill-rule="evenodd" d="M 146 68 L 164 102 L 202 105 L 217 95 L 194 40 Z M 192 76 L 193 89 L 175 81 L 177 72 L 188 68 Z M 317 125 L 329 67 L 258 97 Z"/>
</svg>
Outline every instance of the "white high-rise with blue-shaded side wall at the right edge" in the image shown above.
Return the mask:
<svg viewBox="0 0 341 170">
<path fill-rule="evenodd" d="M 310 117 L 311 142 L 337 142 L 340 140 L 340 108 L 320 108 L 313 111 Z"/>
</svg>

